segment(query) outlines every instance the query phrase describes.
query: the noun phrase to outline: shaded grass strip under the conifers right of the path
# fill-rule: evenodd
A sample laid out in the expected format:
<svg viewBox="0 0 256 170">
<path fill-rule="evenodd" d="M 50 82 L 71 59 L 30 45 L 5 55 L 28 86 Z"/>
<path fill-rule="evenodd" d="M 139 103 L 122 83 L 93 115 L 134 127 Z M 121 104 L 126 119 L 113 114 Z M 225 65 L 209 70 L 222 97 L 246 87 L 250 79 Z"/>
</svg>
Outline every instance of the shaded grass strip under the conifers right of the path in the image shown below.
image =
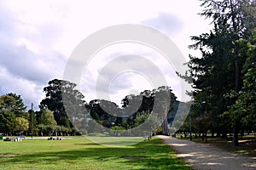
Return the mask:
<svg viewBox="0 0 256 170">
<path fill-rule="evenodd" d="M 179 135 L 177 135 L 177 139 L 181 139 Z M 189 140 L 189 137 L 186 139 Z M 205 143 L 205 141 L 201 140 L 201 137 L 198 137 L 197 139 L 193 137 L 192 141 Z M 207 143 L 239 155 L 256 157 L 256 136 L 254 135 L 243 136 L 242 139 L 239 139 L 239 146 L 233 145 L 232 138 L 223 139 L 208 136 Z"/>
</svg>

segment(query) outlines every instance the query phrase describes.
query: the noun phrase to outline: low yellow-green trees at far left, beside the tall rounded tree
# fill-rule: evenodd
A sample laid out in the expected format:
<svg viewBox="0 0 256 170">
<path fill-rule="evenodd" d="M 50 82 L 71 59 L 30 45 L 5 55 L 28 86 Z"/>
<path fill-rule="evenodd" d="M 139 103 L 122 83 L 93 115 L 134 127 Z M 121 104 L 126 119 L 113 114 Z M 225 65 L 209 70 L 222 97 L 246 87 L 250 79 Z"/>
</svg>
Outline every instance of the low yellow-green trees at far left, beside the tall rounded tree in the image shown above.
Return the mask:
<svg viewBox="0 0 256 170">
<path fill-rule="evenodd" d="M 52 111 L 26 111 L 26 105 L 20 95 L 5 94 L 0 96 L 0 133 L 13 134 L 40 134 L 73 133 L 70 127 L 57 125 Z"/>
</svg>

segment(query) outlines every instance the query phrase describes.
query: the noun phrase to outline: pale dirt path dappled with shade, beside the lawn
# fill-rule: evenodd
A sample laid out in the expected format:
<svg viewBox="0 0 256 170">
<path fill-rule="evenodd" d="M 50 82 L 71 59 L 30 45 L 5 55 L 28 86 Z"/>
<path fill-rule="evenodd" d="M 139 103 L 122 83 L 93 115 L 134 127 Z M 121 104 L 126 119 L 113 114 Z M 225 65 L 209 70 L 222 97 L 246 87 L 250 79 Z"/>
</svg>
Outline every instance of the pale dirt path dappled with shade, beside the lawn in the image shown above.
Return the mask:
<svg viewBox="0 0 256 170">
<path fill-rule="evenodd" d="M 195 170 L 256 170 L 256 159 L 238 156 L 210 144 L 158 136 Z"/>
</svg>

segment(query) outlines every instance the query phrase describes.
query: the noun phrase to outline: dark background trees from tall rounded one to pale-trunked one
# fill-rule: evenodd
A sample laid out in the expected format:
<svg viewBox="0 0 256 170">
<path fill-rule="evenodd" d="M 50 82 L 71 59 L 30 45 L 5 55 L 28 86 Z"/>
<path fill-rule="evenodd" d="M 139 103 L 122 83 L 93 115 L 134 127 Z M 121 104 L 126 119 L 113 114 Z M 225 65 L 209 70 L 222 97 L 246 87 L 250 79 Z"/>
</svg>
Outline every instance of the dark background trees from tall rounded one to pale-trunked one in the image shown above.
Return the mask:
<svg viewBox="0 0 256 170">
<path fill-rule="evenodd" d="M 132 132 L 129 135 L 142 135 L 142 133 L 154 133 L 159 127 L 159 133 L 168 133 L 167 118 L 172 111 L 173 102 L 176 96 L 170 87 L 160 87 L 154 90 L 145 90 L 139 95 L 127 95 L 122 99 L 122 106 L 119 108 L 115 103 L 94 99 L 89 103 L 84 100 L 84 95 L 75 89 L 76 84 L 64 80 L 52 80 L 44 88 L 46 99 L 40 103 L 41 110 L 53 111 L 58 125 L 73 126 L 80 133 L 116 133 L 127 129 L 133 129 L 146 120 L 154 124 L 148 132 Z M 168 94 L 168 96 L 165 96 Z M 154 105 L 155 95 L 162 97 L 162 105 Z M 168 97 L 168 98 L 167 98 Z M 155 111 L 153 111 L 155 109 Z M 166 110 L 166 111 L 163 111 Z M 157 116 L 160 114 L 160 116 Z M 69 119 L 68 119 L 69 117 Z M 162 124 L 162 126 L 161 126 Z M 151 126 L 150 125 L 150 126 Z M 113 131 L 109 131 L 113 129 Z M 149 134 L 148 134 L 149 135 Z"/>
</svg>

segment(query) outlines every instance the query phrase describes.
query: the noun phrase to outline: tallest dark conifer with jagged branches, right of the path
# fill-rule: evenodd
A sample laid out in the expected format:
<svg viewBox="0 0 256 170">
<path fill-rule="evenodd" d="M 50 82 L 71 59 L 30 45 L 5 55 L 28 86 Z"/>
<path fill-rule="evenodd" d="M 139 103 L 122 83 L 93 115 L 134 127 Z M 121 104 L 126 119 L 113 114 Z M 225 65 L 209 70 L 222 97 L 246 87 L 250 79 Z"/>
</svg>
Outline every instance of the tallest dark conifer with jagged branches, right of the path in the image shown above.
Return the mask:
<svg viewBox="0 0 256 170">
<path fill-rule="evenodd" d="M 204 8 L 201 16 L 211 18 L 214 28 L 210 33 L 192 37 L 195 44 L 189 48 L 199 48 L 202 56 L 201 58 L 189 56 L 189 77 L 192 78 L 195 88 L 194 105 L 201 105 L 203 101 L 207 103 L 207 110 L 211 113 L 213 122 L 212 130 L 222 133 L 225 137 L 229 127 L 222 123 L 219 117 L 236 101 L 225 98 L 224 95 L 230 91 L 241 90 L 243 75 L 240 68 L 246 58 L 244 55 L 239 55 L 241 49 L 236 41 L 251 36 L 251 30 L 255 26 L 255 2 L 250 0 L 201 0 L 201 2 Z M 234 122 L 234 125 L 239 123 Z M 234 126 L 234 139 L 238 132 L 237 125 Z M 236 140 L 234 144 L 237 144 Z"/>
</svg>

